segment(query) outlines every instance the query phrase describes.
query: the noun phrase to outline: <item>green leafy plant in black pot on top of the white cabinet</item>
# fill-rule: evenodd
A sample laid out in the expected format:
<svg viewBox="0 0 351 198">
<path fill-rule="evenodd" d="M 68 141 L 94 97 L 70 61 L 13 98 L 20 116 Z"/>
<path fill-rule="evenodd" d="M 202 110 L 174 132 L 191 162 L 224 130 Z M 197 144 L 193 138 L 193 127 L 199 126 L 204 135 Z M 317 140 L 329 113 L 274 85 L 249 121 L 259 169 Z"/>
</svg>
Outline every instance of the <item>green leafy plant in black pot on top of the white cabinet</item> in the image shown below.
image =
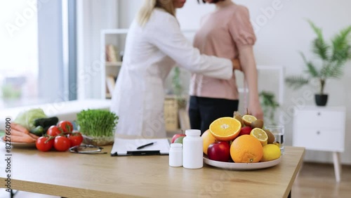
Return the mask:
<svg viewBox="0 0 351 198">
<path fill-rule="evenodd" d="M 317 27 L 308 20 L 317 38 L 312 41 L 312 53 L 317 56 L 321 64 L 312 60 L 307 60 L 303 53 L 300 53 L 305 66 L 305 75 L 296 75 L 286 78 L 286 84 L 293 89 L 309 84 L 312 79 L 319 82 L 319 93 L 315 94 L 315 102 L 318 106 L 325 106 L 328 95 L 324 92 L 324 87 L 328 79 L 340 79 L 343 75 L 343 67 L 347 60 L 351 59 L 350 32 L 351 25 L 341 29 L 327 43 L 322 34 L 322 28 Z"/>
</svg>

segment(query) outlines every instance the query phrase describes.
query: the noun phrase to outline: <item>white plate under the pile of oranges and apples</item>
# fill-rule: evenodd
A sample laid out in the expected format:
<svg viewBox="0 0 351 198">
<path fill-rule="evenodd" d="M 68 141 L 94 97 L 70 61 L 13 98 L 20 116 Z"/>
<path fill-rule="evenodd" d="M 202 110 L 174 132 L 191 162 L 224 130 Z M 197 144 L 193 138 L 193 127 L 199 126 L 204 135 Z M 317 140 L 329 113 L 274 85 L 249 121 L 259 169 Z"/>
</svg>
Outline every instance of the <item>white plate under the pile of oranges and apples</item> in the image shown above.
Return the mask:
<svg viewBox="0 0 351 198">
<path fill-rule="evenodd" d="M 216 166 L 222 169 L 230 169 L 230 170 L 254 170 L 254 169 L 265 169 L 271 166 L 275 166 L 279 164 L 282 157 L 272 161 L 265 162 L 257 162 L 257 163 L 234 163 L 234 162 L 223 162 L 223 161 L 214 161 L 208 159 L 208 157 L 204 157 L 204 163 L 210 166 Z"/>
</svg>

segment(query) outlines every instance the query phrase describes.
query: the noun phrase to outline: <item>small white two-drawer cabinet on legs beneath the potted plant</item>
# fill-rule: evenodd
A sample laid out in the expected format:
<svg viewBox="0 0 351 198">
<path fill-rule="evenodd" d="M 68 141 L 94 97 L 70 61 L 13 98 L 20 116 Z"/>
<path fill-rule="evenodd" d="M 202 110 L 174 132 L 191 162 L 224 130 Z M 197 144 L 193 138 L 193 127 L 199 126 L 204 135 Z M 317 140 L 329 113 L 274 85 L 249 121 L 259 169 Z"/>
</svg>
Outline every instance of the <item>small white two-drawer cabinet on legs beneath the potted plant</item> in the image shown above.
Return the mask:
<svg viewBox="0 0 351 198">
<path fill-rule="evenodd" d="M 345 150 L 345 107 L 295 109 L 293 146 L 333 152 L 336 180 L 340 180 L 340 152 Z"/>
</svg>

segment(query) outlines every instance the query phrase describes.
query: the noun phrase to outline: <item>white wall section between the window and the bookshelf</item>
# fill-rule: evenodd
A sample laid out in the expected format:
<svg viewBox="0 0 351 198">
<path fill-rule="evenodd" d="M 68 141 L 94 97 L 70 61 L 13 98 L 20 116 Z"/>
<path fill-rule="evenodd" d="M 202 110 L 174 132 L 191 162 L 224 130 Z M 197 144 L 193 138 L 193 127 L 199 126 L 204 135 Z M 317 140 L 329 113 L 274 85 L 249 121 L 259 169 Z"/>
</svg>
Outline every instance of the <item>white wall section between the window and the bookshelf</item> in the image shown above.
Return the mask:
<svg viewBox="0 0 351 198">
<path fill-rule="evenodd" d="M 78 99 L 100 98 L 100 31 L 118 28 L 117 0 L 77 1 Z"/>
</svg>

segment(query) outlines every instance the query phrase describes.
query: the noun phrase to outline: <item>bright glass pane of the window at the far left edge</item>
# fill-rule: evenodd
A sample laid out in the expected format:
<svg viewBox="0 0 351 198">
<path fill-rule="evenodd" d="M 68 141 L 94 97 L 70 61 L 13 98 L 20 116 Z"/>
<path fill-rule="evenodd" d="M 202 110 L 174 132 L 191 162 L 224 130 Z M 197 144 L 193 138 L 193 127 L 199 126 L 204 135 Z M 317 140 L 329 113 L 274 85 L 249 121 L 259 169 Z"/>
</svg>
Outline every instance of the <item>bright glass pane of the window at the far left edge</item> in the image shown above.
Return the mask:
<svg viewBox="0 0 351 198">
<path fill-rule="evenodd" d="M 37 10 L 31 2 L 0 2 L 0 109 L 39 102 Z"/>
</svg>

